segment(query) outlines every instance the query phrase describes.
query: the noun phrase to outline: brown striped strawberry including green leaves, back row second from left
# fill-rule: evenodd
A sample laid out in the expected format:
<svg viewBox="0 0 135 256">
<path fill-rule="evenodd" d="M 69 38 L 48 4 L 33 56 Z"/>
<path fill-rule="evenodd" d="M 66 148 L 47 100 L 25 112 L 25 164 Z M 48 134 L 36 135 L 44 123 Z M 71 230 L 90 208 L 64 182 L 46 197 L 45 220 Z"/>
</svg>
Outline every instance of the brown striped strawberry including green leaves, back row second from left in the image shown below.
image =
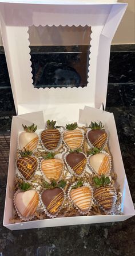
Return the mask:
<svg viewBox="0 0 135 256">
<path fill-rule="evenodd" d="M 56 121 L 47 120 L 47 129 L 41 132 L 42 144 L 47 150 L 55 150 L 58 147 L 61 133 L 55 128 Z"/>
</svg>

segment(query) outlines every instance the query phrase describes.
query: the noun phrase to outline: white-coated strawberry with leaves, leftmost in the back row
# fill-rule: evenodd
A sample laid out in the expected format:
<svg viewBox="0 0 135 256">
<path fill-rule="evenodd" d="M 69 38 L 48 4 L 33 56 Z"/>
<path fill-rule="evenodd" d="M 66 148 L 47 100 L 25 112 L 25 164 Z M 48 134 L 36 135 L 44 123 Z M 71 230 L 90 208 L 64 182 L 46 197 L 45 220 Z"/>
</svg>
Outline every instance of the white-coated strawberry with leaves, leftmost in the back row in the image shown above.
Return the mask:
<svg viewBox="0 0 135 256">
<path fill-rule="evenodd" d="M 24 151 L 35 151 L 38 146 L 38 135 L 35 133 L 37 125 L 32 124 L 31 126 L 22 125 L 24 132 L 19 135 L 19 148 Z"/>
</svg>

